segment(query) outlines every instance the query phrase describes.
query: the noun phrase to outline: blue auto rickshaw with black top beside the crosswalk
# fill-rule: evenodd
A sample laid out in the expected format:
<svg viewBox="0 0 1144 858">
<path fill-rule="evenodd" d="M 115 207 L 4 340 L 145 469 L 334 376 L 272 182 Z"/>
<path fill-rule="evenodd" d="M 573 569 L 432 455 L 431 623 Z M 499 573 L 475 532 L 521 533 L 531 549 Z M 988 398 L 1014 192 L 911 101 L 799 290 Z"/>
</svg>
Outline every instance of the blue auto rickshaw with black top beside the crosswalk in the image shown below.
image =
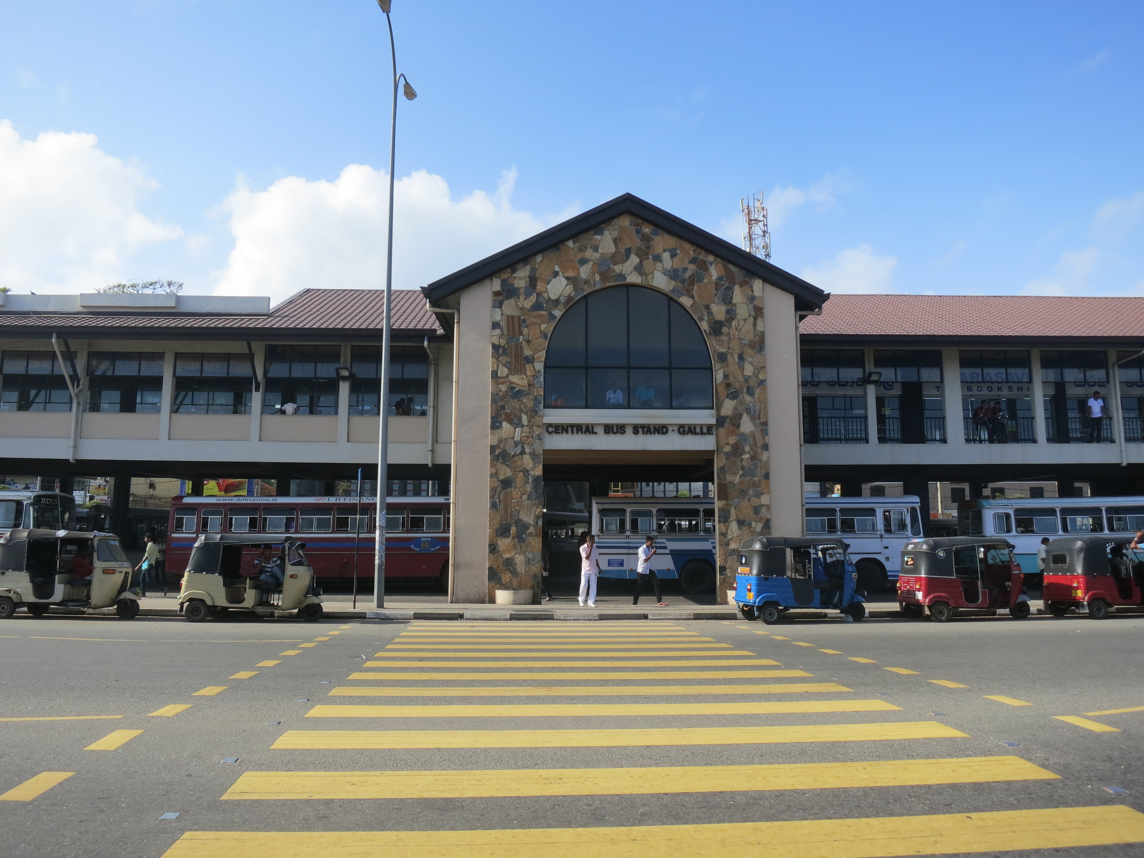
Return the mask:
<svg viewBox="0 0 1144 858">
<path fill-rule="evenodd" d="M 756 537 L 739 547 L 734 602 L 748 620 L 768 625 L 794 619 L 800 607 L 834 609 L 866 617 L 858 572 L 841 539 Z"/>
</svg>

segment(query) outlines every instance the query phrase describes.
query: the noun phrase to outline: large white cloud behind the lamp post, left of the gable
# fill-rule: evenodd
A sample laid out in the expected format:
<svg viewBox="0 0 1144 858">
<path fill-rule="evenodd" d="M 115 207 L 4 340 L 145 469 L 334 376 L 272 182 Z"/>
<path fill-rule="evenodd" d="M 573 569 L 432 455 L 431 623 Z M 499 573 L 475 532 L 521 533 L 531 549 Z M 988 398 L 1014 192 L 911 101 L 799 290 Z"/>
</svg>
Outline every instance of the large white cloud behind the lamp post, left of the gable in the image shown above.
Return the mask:
<svg viewBox="0 0 1144 858">
<path fill-rule="evenodd" d="M 515 182 L 508 170 L 495 192 L 453 199 L 440 176 L 398 178 L 394 287 L 423 286 L 542 230 L 547 223 L 513 207 Z M 384 286 L 388 191 L 383 172 L 358 164 L 333 182 L 288 176 L 255 191 L 240 180 L 220 207 L 235 249 L 214 292 L 277 302 L 307 287 Z"/>
</svg>

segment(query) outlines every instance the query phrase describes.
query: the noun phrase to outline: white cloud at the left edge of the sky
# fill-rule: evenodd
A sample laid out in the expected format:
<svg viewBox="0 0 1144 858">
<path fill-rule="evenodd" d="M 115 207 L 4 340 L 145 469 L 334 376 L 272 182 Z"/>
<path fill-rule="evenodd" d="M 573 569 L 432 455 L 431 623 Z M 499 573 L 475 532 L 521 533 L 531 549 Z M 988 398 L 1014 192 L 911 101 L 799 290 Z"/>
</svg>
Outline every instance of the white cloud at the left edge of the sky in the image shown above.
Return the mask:
<svg viewBox="0 0 1144 858">
<path fill-rule="evenodd" d="M 93 134 L 22 140 L 0 120 L 0 285 L 76 293 L 125 277 L 138 249 L 182 235 L 140 212 L 158 186 Z"/>
</svg>

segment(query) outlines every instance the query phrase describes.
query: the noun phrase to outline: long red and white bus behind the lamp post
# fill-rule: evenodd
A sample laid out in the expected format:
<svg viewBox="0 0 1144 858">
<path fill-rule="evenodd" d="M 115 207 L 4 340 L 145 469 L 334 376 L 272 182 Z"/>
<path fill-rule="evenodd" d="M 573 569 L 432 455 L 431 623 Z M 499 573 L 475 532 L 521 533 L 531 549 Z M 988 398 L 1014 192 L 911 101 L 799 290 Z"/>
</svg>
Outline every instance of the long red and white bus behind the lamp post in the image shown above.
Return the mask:
<svg viewBox="0 0 1144 858">
<path fill-rule="evenodd" d="M 378 499 L 175 498 L 167 529 L 167 575 L 186 570 L 200 533 L 264 533 L 268 542 L 292 534 L 305 542 L 315 575 L 333 583 L 372 580 Z M 360 517 L 359 517 L 360 510 Z M 386 580 L 448 587 L 448 498 L 390 498 L 386 505 Z"/>
</svg>

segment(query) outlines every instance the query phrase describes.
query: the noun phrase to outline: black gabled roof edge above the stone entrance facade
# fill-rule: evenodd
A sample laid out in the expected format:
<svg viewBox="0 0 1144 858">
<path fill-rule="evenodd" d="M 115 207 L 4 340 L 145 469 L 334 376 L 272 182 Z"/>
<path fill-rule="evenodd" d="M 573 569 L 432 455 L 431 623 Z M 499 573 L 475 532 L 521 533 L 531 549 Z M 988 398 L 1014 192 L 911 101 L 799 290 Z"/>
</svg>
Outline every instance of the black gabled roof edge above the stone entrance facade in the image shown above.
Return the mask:
<svg viewBox="0 0 1144 858">
<path fill-rule="evenodd" d="M 802 302 L 803 305 L 799 307 L 800 310 L 816 310 L 829 297 L 829 293 L 795 277 L 788 271 L 784 271 L 778 265 L 772 265 L 770 262 L 747 253 L 741 247 L 736 247 L 730 241 L 714 236 L 706 230 L 701 230 L 694 224 L 688 223 L 631 193 L 625 193 L 583 214 L 571 217 L 564 221 L 564 223 L 558 223 L 543 232 L 538 232 L 532 238 L 526 238 L 524 241 L 519 241 L 500 253 L 486 256 L 479 262 L 474 262 L 471 265 L 462 268 L 460 271 L 454 271 L 439 280 L 435 280 L 428 286 L 422 286 L 421 291 L 429 299 L 430 304 L 436 304 L 438 301 L 479 280 L 484 280 L 486 277 L 492 277 L 498 271 L 502 271 L 515 262 L 534 256 L 549 247 L 567 241 L 573 236 L 587 232 L 591 228 L 623 214 L 635 215 L 648 223 L 670 232 L 677 238 L 682 238 L 697 247 L 708 251 L 733 265 L 738 265 L 784 292 L 789 292 Z"/>
</svg>

